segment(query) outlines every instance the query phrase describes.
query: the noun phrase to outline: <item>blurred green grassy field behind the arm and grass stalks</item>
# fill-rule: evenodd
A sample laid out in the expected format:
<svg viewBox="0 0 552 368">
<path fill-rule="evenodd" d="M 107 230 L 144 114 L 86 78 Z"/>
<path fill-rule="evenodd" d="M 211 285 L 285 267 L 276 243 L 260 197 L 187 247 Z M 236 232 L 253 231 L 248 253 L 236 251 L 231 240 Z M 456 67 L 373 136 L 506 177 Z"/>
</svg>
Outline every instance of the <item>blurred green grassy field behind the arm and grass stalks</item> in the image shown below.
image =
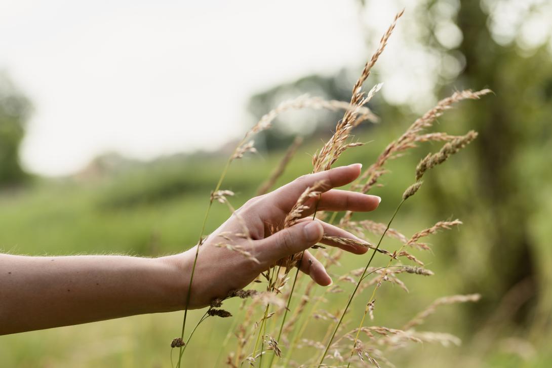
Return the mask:
<svg viewBox="0 0 552 368">
<path fill-rule="evenodd" d="M 387 129 L 370 130 L 359 136 L 368 142 L 363 147 L 349 150 L 338 164 L 362 162 L 367 167 L 392 137 L 404 130 L 401 124 Z M 454 130 L 454 128 L 452 129 Z M 300 147 L 285 175 L 283 184 L 311 170 L 310 157 L 320 146 L 313 139 Z M 371 194 L 383 198 L 380 208 L 367 217 L 386 222 L 400 200 L 402 191 L 412 182 L 415 163 L 427 151 L 439 146 L 426 145 L 407 157 L 390 163 L 391 173 Z M 256 188 L 277 165 L 283 152 L 248 156 L 232 164 L 222 185 L 237 193 L 232 199 L 239 206 L 254 195 Z M 399 287 L 385 285 L 378 294 L 375 310 L 376 325 L 399 328 L 435 298 L 446 295 L 479 292 L 485 279 L 475 279 L 472 273 L 485 269 L 485 228 L 492 220 L 485 219 L 484 209 L 477 206 L 478 193 L 471 160 L 473 152 L 466 150 L 450 159 L 443 167 L 430 172 L 419 194 L 413 197 L 397 217 L 394 227 L 409 235 L 443 220 L 432 208 L 433 183 L 446 183 L 447 202 L 442 210 L 447 217 L 465 222 L 459 230 L 438 234 L 428 239 L 432 253 L 414 252 L 436 272 L 431 278 L 405 275 L 402 277 L 410 289 L 406 294 Z M 0 195 L 0 249 L 4 252 L 29 255 L 125 253 L 156 257 L 181 252 L 192 246 L 198 238 L 198 229 L 224 159 L 218 157 L 198 159 L 164 159 L 93 180 L 77 178 L 40 179 L 34 185 Z M 463 346 L 412 344 L 400 351 L 392 351 L 388 358 L 397 366 L 489 366 L 489 367 L 548 367 L 552 355 L 548 353 L 549 335 L 539 321 L 549 313 L 550 271 L 552 264 L 548 239 L 552 231 L 548 226 L 552 214 L 552 196 L 548 187 L 542 188 L 542 203 L 534 211 L 532 237 L 539 255 L 539 272 L 544 292 L 539 295 L 539 308 L 529 325 L 489 322 L 481 318 L 479 305 L 445 306 L 430 317 L 421 330 L 450 332 L 464 340 Z M 458 196 L 458 193 L 468 193 Z M 208 230 L 213 230 L 228 216 L 224 206 L 214 206 Z M 373 239 L 372 239 L 373 240 Z M 400 244 L 389 239 L 383 247 L 391 251 Z M 366 256 L 365 256 L 366 257 Z M 365 264 L 365 257 L 346 255 L 342 265 L 332 268 L 336 276 Z M 375 265 L 386 264 L 385 258 L 376 257 Z M 486 270 L 492 278 L 492 269 Z M 335 277 L 337 278 L 337 277 Z M 548 287 L 546 287 L 548 286 Z M 343 284 L 345 293 L 332 294 L 323 306 L 335 312 L 343 306 L 351 285 Z M 317 290 L 321 292 L 320 288 Z M 368 292 L 359 295 L 349 318 L 353 325 L 362 315 Z M 487 303 L 488 304 L 488 303 Z M 226 304 L 225 304 L 226 305 Z M 481 305 L 492 314 L 508 306 L 496 303 Z M 239 303 L 227 303 L 227 309 L 240 318 Z M 293 308 L 292 308 L 293 310 Z M 496 311 L 493 312 L 493 311 Z M 540 312 L 539 312 L 540 311 Z M 260 314 L 261 311 L 258 311 Z M 190 321 L 203 314 L 192 313 Z M 543 317 L 544 316 L 544 317 Z M 1 366 L 17 367 L 167 367 L 170 366 L 169 343 L 179 334 L 182 313 L 151 314 L 113 321 L 84 324 L 0 337 Z M 232 318 L 208 319 L 187 350 L 185 366 L 214 366 L 219 353 L 222 366 L 227 350 L 235 346 L 230 338 L 227 348 L 221 348 Z M 541 328 L 539 328 L 541 327 Z M 327 323 L 311 324 L 306 337 L 321 339 Z M 512 340 L 515 338 L 516 340 Z M 509 340 L 508 340 L 509 339 Z M 512 346 L 516 346 L 513 349 Z M 301 359 L 320 354 L 312 348 L 296 351 L 294 358 Z"/>
</svg>

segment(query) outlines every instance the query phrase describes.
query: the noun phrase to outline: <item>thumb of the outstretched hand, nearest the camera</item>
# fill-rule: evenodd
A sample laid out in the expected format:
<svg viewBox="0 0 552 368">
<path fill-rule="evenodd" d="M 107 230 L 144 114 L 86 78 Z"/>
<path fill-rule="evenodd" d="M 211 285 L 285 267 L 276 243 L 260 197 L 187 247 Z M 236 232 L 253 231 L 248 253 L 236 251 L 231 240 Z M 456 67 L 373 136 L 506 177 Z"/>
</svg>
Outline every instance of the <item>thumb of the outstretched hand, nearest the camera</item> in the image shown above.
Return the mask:
<svg viewBox="0 0 552 368">
<path fill-rule="evenodd" d="M 280 258 L 309 249 L 322 239 L 324 230 L 319 221 L 302 221 L 257 241 L 255 250 L 261 263 L 274 263 Z"/>
</svg>

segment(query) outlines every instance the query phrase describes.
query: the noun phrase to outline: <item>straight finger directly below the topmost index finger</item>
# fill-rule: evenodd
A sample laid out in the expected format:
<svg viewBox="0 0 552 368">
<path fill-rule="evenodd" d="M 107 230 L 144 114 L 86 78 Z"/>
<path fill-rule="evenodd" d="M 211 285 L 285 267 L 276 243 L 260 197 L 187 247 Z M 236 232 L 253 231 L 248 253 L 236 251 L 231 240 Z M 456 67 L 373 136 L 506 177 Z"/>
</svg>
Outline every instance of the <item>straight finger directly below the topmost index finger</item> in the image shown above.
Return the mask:
<svg viewBox="0 0 552 368">
<path fill-rule="evenodd" d="M 316 205 L 316 202 L 318 204 Z M 308 210 L 303 211 L 305 216 L 311 215 L 315 208 L 319 211 L 353 211 L 368 212 L 375 210 L 381 202 L 377 195 L 368 195 L 356 191 L 331 189 L 318 198 L 306 202 Z M 317 207 L 316 207 L 317 206 Z"/>
</svg>

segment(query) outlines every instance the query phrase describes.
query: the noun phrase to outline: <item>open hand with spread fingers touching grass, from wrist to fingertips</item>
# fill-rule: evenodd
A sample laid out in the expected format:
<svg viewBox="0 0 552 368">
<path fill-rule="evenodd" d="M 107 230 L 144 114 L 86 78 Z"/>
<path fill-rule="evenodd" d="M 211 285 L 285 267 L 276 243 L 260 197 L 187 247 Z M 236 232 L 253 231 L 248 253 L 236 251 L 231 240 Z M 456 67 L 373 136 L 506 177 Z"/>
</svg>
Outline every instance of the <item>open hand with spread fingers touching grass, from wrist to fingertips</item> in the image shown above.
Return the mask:
<svg viewBox="0 0 552 368">
<path fill-rule="evenodd" d="M 304 175 L 293 182 L 248 200 L 245 205 L 236 210 L 217 230 L 204 241 L 199 249 L 195 267 L 190 308 L 200 308 L 209 305 L 215 297 L 224 297 L 232 289 L 241 289 L 257 276 L 273 266 L 279 259 L 302 252 L 320 242 L 323 234 L 360 240 L 353 234 L 341 230 L 320 220 L 311 220 L 316 202 L 319 211 L 372 211 L 378 207 L 378 196 L 366 195 L 353 191 L 332 189 L 351 183 L 360 175 L 360 164 L 343 166 L 324 172 Z M 270 228 L 282 226 L 286 215 L 295 205 L 303 191 L 317 182 L 323 182 L 320 196 L 306 202 L 308 210 L 302 212 L 305 217 L 295 225 L 272 233 Z M 241 217 L 240 218 L 238 218 Z M 310 216 L 310 217 L 309 217 Z M 233 246 L 249 252 L 251 257 L 227 248 L 217 247 L 220 243 L 229 243 L 222 236 L 243 233 L 243 225 L 247 226 L 251 240 L 232 237 Z M 221 236 L 222 235 L 222 236 Z M 323 244 L 335 246 L 354 254 L 364 254 L 367 248 L 362 246 L 346 246 L 343 244 L 323 241 Z M 196 248 L 182 254 L 167 257 L 181 269 L 183 288 L 187 290 L 192 271 Z M 300 269 L 312 280 L 322 286 L 331 285 L 332 280 L 322 263 L 308 250 L 302 258 Z M 183 294 L 185 301 L 185 294 Z M 183 301 L 183 302 L 184 302 Z"/>
</svg>

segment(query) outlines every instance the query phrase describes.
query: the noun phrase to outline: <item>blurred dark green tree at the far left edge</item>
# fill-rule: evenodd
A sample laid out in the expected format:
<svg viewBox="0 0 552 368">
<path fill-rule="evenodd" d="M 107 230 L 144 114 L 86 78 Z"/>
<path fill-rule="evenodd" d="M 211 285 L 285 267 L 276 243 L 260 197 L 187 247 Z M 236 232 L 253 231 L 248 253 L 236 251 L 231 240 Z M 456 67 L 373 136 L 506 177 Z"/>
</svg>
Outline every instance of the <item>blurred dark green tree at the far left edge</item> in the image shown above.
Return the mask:
<svg viewBox="0 0 552 368">
<path fill-rule="evenodd" d="M 31 105 L 4 74 L 0 74 L 0 186 L 22 183 L 27 175 L 19 162 L 19 147 Z"/>
</svg>

